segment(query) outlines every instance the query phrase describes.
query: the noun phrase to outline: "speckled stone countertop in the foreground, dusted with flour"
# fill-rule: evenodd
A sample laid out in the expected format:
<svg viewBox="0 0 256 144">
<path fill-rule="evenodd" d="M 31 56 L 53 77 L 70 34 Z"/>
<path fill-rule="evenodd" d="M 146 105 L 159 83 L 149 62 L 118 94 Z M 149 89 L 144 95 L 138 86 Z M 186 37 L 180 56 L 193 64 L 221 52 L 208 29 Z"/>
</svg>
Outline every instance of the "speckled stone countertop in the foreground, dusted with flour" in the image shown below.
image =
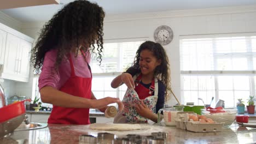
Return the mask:
<svg viewBox="0 0 256 144">
<path fill-rule="evenodd" d="M 253 143 L 256 142 L 256 128 L 231 125 L 222 132 L 194 133 L 176 127 L 165 127 L 164 124 L 141 124 L 141 130 L 100 131 L 91 130 L 89 125 L 49 124 L 47 128 L 15 131 L 0 143 L 79 143 L 79 135 L 107 132 L 124 137 L 127 134 L 151 135 L 153 132 L 168 133 L 167 143 Z"/>
</svg>

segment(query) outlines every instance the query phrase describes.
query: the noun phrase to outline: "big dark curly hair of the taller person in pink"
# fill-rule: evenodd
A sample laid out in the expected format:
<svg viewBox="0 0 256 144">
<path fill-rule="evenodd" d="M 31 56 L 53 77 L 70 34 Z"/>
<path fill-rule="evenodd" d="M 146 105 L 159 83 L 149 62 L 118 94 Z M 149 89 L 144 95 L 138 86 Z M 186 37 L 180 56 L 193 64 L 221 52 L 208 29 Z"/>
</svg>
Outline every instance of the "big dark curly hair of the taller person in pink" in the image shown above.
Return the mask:
<svg viewBox="0 0 256 144">
<path fill-rule="evenodd" d="M 36 46 L 31 50 L 31 62 L 36 73 L 42 68 L 45 53 L 52 49 L 57 50 L 55 70 L 62 58 L 74 49 L 75 56 L 79 50 L 91 50 L 101 64 L 104 17 L 103 9 L 96 3 L 78 0 L 65 5 L 45 23 Z"/>
</svg>

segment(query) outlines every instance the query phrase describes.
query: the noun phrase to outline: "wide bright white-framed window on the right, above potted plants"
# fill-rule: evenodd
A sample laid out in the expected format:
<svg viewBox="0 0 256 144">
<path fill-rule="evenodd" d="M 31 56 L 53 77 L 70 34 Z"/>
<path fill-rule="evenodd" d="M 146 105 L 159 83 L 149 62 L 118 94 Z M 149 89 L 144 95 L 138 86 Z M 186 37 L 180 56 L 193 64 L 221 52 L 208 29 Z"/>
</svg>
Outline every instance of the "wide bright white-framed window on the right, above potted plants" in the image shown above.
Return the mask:
<svg viewBox="0 0 256 144">
<path fill-rule="evenodd" d="M 256 34 L 192 35 L 180 39 L 182 101 L 235 107 L 255 95 Z"/>
</svg>

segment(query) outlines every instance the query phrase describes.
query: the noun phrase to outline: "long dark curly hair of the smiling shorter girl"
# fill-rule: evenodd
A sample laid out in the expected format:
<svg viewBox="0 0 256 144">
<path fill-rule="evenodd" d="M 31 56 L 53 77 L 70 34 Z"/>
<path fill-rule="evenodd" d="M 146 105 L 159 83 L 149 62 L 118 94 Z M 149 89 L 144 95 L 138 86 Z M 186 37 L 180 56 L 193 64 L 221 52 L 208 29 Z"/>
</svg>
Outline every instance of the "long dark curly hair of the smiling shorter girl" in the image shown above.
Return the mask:
<svg viewBox="0 0 256 144">
<path fill-rule="evenodd" d="M 171 91 L 170 64 L 164 47 L 162 47 L 159 43 L 154 43 L 153 41 L 145 41 L 144 43 L 142 43 L 136 52 L 134 62 L 132 63 L 131 67 L 128 68 L 125 72 L 132 75 L 141 73 L 141 69 L 139 68 L 139 56 L 141 55 L 141 51 L 143 50 L 151 51 L 156 59 L 161 60 L 161 64 L 155 68 L 154 75 L 158 77 L 158 79 L 162 81 L 166 87 L 166 101 L 170 97 Z"/>
</svg>

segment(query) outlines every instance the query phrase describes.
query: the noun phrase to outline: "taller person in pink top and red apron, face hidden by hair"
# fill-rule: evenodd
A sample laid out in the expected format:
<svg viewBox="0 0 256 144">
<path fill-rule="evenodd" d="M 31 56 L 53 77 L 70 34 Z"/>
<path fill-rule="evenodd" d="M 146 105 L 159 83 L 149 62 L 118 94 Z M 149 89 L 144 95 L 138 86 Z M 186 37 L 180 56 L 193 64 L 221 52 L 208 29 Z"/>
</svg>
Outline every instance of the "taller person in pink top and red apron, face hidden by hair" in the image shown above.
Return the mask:
<svg viewBox="0 0 256 144">
<path fill-rule="evenodd" d="M 53 104 L 48 123 L 90 124 L 89 108 L 102 112 L 118 98 L 96 100 L 91 92 L 90 50 L 101 62 L 104 11 L 89 1 L 74 1 L 46 23 L 32 49 L 44 103 Z M 41 69 L 42 68 L 42 69 Z"/>
</svg>

